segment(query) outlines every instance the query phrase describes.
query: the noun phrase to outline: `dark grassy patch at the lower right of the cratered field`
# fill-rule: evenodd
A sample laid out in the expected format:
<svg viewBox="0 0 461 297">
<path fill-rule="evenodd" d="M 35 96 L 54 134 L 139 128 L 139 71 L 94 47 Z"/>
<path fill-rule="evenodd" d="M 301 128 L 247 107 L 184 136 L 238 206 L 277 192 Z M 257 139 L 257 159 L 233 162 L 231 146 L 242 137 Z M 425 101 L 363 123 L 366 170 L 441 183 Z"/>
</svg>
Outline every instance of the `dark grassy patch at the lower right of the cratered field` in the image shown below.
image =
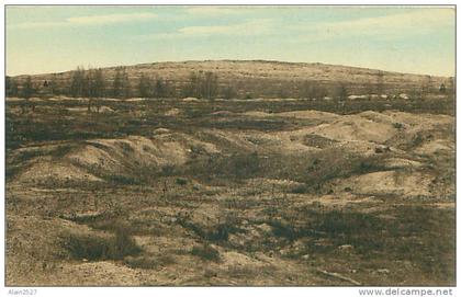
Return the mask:
<svg viewBox="0 0 461 297">
<path fill-rule="evenodd" d="M 335 258 L 339 247 L 347 244 L 364 265 L 384 260 L 387 263 L 409 261 L 427 279 L 454 279 L 452 209 L 398 206 L 385 213 L 366 214 L 303 208 L 290 217 L 284 216 L 268 221 L 273 237 L 288 242 L 307 242 L 301 250 L 292 250 L 291 256 Z"/>
</svg>

